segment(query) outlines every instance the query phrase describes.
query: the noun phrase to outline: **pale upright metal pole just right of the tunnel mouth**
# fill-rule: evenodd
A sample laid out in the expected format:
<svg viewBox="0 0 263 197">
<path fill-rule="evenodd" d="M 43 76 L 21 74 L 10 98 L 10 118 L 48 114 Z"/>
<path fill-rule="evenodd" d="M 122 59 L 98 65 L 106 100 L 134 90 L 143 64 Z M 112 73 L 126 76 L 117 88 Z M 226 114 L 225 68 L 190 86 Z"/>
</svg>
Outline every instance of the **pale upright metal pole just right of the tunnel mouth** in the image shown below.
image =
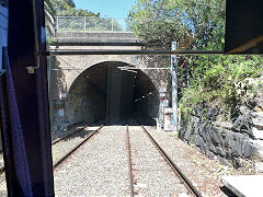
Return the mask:
<svg viewBox="0 0 263 197">
<path fill-rule="evenodd" d="M 176 42 L 172 42 L 172 50 L 176 50 Z M 171 55 L 172 74 L 172 112 L 173 112 L 173 132 L 178 132 L 178 61 L 176 55 Z"/>
</svg>

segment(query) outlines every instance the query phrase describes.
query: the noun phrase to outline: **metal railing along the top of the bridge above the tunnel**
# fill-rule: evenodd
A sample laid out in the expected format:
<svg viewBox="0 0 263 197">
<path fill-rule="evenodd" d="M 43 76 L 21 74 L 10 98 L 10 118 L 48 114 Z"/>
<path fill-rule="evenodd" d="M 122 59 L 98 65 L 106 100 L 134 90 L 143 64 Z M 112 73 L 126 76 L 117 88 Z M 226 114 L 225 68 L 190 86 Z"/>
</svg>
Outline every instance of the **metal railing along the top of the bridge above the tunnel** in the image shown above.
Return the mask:
<svg viewBox="0 0 263 197">
<path fill-rule="evenodd" d="M 57 32 L 133 32 L 123 18 L 56 16 Z"/>
</svg>

